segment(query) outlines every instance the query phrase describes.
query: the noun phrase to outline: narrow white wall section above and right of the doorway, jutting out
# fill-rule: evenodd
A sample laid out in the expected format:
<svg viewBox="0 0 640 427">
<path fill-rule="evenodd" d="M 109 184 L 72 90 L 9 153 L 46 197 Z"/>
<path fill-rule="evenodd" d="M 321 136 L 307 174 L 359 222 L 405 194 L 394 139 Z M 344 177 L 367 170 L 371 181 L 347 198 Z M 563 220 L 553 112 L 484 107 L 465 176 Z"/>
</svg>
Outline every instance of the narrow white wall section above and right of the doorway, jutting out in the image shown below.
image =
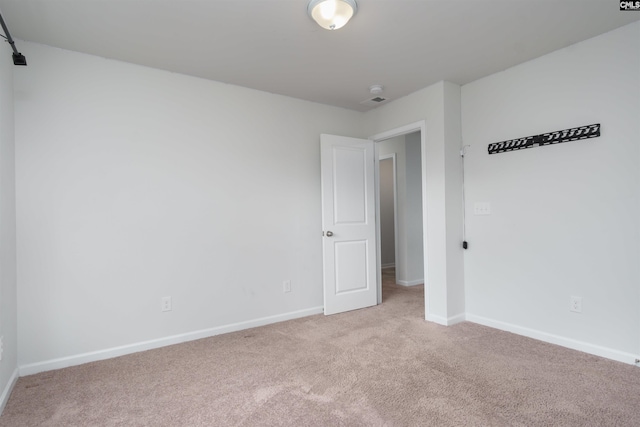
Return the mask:
<svg viewBox="0 0 640 427">
<path fill-rule="evenodd" d="M 426 123 L 421 155 L 427 319 L 453 324 L 464 320 L 462 186 L 459 179 L 448 181 L 462 172 L 460 87 L 429 86 L 365 113 L 364 126 L 367 135 L 378 135 L 420 121 Z"/>
</svg>

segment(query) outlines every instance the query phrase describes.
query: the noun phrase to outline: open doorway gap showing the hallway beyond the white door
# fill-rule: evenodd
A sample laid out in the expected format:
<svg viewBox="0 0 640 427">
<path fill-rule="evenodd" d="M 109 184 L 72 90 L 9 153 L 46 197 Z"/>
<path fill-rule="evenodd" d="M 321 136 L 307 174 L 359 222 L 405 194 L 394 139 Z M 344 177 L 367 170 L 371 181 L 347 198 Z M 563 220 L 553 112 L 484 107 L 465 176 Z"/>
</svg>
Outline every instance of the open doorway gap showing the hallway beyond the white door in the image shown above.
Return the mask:
<svg viewBox="0 0 640 427">
<path fill-rule="evenodd" d="M 381 288 L 423 285 L 421 132 L 377 142 Z"/>
</svg>

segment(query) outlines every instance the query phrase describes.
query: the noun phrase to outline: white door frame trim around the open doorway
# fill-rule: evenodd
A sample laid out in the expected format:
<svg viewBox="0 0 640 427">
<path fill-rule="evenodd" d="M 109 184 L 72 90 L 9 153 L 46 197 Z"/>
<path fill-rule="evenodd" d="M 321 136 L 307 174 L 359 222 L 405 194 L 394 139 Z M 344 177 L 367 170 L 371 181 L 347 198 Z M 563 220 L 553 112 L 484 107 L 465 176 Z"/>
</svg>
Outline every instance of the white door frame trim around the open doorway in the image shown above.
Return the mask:
<svg viewBox="0 0 640 427">
<path fill-rule="evenodd" d="M 394 138 L 396 136 L 407 135 L 413 132 L 420 132 L 420 160 L 422 169 L 422 246 L 424 256 L 424 318 L 429 318 L 429 283 L 427 282 L 427 270 L 429 263 L 427 260 L 428 246 L 428 234 L 427 234 L 427 122 L 426 120 L 420 120 L 418 122 L 409 123 L 404 126 L 400 126 L 385 132 L 377 133 L 370 136 L 369 139 L 375 142 L 375 190 L 376 190 L 376 268 L 377 271 L 381 271 L 382 258 L 381 258 L 381 246 L 380 246 L 380 164 L 378 160 L 379 146 L 378 142 Z M 382 275 L 378 274 L 378 304 L 382 303 Z"/>
</svg>

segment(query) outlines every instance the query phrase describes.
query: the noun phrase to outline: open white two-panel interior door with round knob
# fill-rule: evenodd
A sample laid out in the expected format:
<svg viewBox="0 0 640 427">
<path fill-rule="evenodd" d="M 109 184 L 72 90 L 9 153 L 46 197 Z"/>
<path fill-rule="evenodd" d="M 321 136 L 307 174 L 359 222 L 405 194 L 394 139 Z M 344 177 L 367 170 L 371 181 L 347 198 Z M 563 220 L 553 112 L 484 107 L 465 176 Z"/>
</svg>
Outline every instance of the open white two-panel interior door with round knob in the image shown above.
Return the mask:
<svg viewBox="0 0 640 427">
<path fill-rule="evenodd" d="M 321 135 L 324 314 L 376 305 L 375 147 Z"/>
</svg>

